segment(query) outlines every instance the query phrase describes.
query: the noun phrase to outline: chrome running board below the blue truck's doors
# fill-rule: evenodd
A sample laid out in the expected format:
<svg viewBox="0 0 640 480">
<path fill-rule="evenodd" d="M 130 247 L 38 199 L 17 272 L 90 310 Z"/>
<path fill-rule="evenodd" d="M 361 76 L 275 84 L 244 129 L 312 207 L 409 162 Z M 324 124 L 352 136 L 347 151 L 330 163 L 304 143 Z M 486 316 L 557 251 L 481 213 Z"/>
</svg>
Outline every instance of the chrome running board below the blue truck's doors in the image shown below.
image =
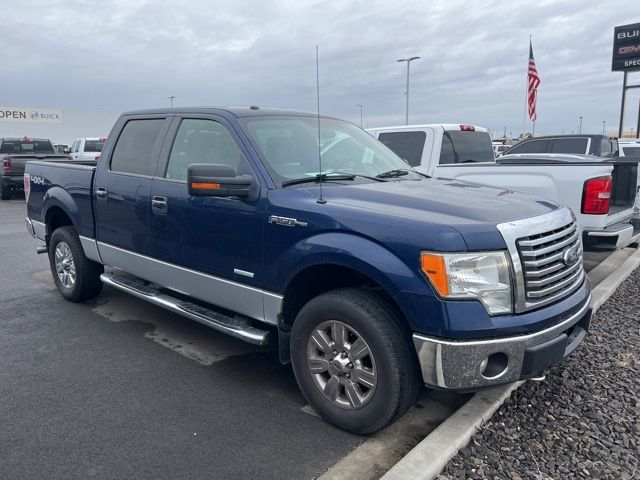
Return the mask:
<svg viewBox="0 0 640 480">
<path fill-rule="evenodd" d="M 128 275 L 125 276 L 107 272 L 100 275 L 100 280 L 102 280 L 102 283 L 117 288 L 118 290 L 130 293 L 142 300 L 146 300 L 178 315 L 200 322 L 232 337 L 244 340 L 245 342 L 253 343 L 254 345 L 266 345 L 269 341 L 269 331 L 260 330 L 251 326 L 246 317 L 229 317 L 201 305 L 180 300 L 160 290 L 160 287 L 156 285 L 149 284 Z"/>
</svg>

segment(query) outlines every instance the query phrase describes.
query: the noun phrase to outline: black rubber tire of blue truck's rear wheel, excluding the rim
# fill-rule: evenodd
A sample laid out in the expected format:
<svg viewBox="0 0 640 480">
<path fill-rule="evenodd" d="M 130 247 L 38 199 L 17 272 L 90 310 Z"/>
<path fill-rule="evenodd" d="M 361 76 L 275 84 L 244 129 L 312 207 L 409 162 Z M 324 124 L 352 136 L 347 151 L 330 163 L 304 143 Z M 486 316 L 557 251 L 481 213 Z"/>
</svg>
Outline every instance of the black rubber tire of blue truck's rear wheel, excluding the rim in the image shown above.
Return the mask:
<svg viewBox="0 0 640 480">
<path fill-rule="evenodd" d="M 72 284 L 65 286 L 56 268 L 56 248 L 62 243 L 69 248 L 73 265 L 75 266 L 75 279 Z M 61 245 L 62 246 L 62 245 Z M 104 272 L 104 266 L 89 260 L 84 255 L 80 239 L 73 227 L 60 227 L 51 235 L 49 241 L 49 265 L 51 275 L 62 296 L 71 302 L 84 302 L 98 296 L 102 291 L 100 275 Z"/>
</svg>

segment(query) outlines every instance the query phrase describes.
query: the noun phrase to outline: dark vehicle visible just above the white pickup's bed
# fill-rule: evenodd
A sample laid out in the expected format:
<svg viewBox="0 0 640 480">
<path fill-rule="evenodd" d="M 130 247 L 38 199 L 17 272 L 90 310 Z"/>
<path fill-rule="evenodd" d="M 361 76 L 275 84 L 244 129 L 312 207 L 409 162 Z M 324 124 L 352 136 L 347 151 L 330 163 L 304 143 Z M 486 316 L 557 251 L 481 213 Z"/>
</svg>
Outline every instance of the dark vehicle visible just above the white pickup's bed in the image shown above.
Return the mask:
<svg viewBox="0 0 640 480">
<path fill-rule="evenodd" d="M 617 155 L 618 141 L 606 135 L 549 135 L 532 137 L 514 145 L 503 155 L 523 153 L 569 153 L 613 157 Z"/>
</svg>

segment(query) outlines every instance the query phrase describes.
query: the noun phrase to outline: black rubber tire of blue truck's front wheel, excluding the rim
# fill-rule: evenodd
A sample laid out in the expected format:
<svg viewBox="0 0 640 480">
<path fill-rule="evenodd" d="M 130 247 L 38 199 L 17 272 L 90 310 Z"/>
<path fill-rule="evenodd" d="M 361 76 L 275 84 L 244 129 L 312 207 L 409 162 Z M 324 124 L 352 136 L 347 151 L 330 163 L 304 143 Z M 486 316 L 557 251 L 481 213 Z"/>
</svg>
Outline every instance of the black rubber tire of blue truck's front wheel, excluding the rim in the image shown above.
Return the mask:
<svg viewBox="0 0 640 480">
<path fill-rule="evenodd" d="M 314 380 L 318 376 L 308 366 L 308 348 L 315 348 L 309 347 L 311 335 L 332 320 L 353 329 L 375 359 L 377 384 L 368 403 L 358 408 L 340 406 L 327 398 Z M 395 309 L 380 296 L 359 289 L 324 293 L 300 310 L 291 330 L 291 362 L 300 390 L 323 419 L 353 433 L 370 434 L 393 423 L 417 401 L 423 384 L 409 333 L 401 322 Z M 325 357 L 319 358 L 324 361 Z M 354 368 L 353 363 L 348 365 Z M 326 377 L 330 376 L 327 371 Z M 343 391 L 346 396 L 346 389 Z"/>
</svg>

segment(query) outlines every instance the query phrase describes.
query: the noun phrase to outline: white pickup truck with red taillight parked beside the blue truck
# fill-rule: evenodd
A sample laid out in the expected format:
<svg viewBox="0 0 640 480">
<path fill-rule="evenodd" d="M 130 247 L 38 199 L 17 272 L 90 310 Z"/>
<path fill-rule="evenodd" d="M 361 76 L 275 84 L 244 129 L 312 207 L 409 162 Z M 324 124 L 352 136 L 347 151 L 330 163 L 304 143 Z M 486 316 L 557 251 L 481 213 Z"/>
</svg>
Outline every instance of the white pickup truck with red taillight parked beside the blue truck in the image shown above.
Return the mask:
<svg viewBox="0 0 640 480">
<path fill-rule="evenodd" d="M 475 125 L 409 125 L 368 132 L 431 177 L 518 190 L 569 206 L 585 250 L 614 250 L 640 238 L 637 162 L 562 154 L 503 155 L 496 160 L 489 132 Z"/>
</svg>

